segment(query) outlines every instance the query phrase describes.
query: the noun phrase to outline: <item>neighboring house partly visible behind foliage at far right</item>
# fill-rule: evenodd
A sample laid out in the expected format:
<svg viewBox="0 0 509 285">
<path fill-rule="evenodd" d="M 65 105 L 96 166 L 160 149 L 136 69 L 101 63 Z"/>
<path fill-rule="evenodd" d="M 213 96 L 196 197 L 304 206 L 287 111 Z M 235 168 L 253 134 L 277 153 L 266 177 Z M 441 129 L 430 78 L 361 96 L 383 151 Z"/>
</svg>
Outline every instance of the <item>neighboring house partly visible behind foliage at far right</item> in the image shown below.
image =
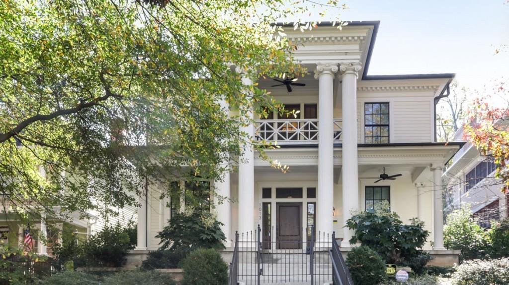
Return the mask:
<svg viewBox="0 0 509 285">
<path fill-rule="evenodd" d="M 463 139 L 463 127 L 453 140 Z M 454 156 L 453 163 L 443 174 L 447 213 L 469 206 L 482 227 L 491 221 L 509 217 L 509 195 L 503 194 L 501 181 L 495 178 L 496 165 L 491 157 L 481 156 L 470 142 Z"/>
</svg>

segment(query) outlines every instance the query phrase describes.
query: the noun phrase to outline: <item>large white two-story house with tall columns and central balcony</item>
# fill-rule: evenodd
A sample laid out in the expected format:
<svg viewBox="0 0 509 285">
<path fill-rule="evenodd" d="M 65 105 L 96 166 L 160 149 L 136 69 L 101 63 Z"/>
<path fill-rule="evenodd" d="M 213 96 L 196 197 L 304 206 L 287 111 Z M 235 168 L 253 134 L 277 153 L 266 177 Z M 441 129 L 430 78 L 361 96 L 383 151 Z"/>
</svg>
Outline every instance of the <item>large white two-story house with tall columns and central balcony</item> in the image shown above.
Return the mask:
<svg viewBox="0 0 509 285">
<path fill-rule="evenodd" d="M 219 195 L 233 199 L 215 208 L 227 246 L 236 231 L 258 225 L 263 239 L 271 241 L 288 236 L 305 241 L 314 226 L 321 233 L 335 231 L 348 250 L 352 233 L 344 226 L 352 211 L 385 200 L 404 222 L 425 222 L 426 250 L 437 260 L 454 259 L 457 252 L 443 247 L 442 167 L 464 142 L 437 142 L 435 130 L 436 103 L 448 95 L 454 74 L 368 75 L 378 27 L 378 21 L 351 22 L 342 30 L 330 23 L 305 32 L 288 27 L 288 38 L 299 45 L 296 60 L 314 74 L 296 82 L 305 86 L 272 87 L 279 84 L 273 79 L 258 83 L 288 110 L 300 112 L 297 118 L 277 113 L 254 118 L 244 131 L 277 141 L 281 148 L 267 154 L 290 171 L 272 168 L 248 149 L 238 172 L 215 182 Z M 402 175 L 376 182 L 384 170 Z M 172 217 L 173 206 L 166 205 L 182 202 L 160 200 L 157 185 L 148 185 L 147 196 L 140 198 L 132 254 L 158 248 L 155 236 Z"/>
</svg>

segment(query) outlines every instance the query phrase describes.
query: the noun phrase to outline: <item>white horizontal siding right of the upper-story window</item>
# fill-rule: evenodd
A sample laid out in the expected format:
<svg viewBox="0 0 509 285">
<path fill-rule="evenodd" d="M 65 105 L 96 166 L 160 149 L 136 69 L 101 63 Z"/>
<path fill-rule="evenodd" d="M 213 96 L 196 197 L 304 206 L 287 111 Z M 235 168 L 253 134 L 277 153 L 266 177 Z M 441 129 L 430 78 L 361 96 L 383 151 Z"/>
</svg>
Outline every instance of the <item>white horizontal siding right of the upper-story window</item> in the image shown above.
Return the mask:
<svg viewBox="0 0 509 285">
<path fill-rule="evenodd" d="M 433 132 L 430 101 L 393 101 L 392 142 L 427 142 Z"/>
</svg>

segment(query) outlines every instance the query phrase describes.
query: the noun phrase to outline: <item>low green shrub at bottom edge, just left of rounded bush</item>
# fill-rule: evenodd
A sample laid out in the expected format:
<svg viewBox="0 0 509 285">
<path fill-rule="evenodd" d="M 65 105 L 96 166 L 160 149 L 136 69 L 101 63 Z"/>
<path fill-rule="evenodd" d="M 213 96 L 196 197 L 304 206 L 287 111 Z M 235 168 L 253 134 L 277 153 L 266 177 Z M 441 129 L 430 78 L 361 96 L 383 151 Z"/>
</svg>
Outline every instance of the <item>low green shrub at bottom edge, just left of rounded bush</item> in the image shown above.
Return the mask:
<svg viewBox="0 0 509 285">
<path fill-rule="evenodd" d="M 103 285 L 175 285 L 168 275 L 155 271 L 124 271 L 104 278 Z"/>
</svg>

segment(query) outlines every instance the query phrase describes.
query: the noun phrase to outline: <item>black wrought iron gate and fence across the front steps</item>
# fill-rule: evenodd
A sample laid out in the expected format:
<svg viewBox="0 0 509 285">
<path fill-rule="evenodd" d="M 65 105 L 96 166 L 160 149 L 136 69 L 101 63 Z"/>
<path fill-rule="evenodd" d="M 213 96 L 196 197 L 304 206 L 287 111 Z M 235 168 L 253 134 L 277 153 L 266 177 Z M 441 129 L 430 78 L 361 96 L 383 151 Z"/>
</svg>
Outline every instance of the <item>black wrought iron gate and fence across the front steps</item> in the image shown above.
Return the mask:
<svg viewBox="0 0 509 285">
<path fill-rule="evenodd" d="M 310 232 L 313 234 L 305 240 L 296 236 L 284 241 L 263 240 L 260 227 L 240 234 L 237 257 L 234 254 L 238 260 L 237 280 L 246 285 L 331 282 L 330 235 L 315 234 L 313 228 Z"/>
</svg>

